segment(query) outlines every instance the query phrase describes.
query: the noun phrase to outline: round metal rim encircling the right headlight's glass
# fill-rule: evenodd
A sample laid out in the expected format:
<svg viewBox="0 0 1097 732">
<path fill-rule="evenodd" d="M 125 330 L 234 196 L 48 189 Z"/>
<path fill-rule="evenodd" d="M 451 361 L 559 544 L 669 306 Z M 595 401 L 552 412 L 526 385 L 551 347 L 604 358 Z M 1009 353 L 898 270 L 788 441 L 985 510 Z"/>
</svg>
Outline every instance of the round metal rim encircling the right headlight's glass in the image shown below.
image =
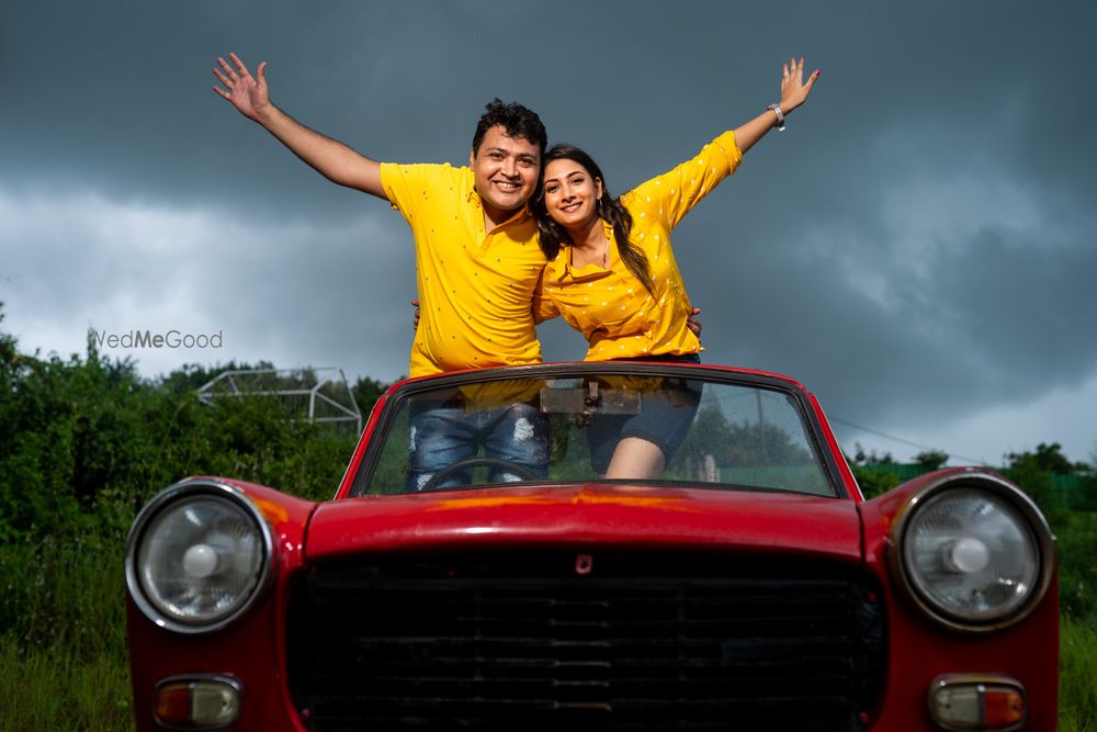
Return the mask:
<svg viewBox="0 0 1097 732">
<path fill-rule="evenodd" d="M 918 514 L 918 509 L 930 498 L 947 491 L 961 488 L 982 491 L 1009 503 L 1010 507 L 1017 510 L 1028 523 L 1028 528 L 1036 539 L 1034 549 L 1040 566 L 1032 592 L 1029 593 L 1029 596 L 1020 606 L 999 618 L 972 621 L 957 617 L 926 597 L 907 573 L 906 562 L 903 558 L 903 544 L 912 518 Z M 1055 538 L 1051 531 L 1051 527 L 1048 525 L 1048 520 L 1028 494 L 1005 478 L 988 472 L 946 475 L 939 481 L 924 486 L 909 496 L 898 509 L 887 540 L 892 576 L 898 579 L 897 584 L 903 595 L 913 601 L 924 615 L 947 628 L 961 632 L 988 633 L 1020 622 L 1040 605 L 1040 601 L 1048 594 L 1054 576 Z"/>
</svg>

